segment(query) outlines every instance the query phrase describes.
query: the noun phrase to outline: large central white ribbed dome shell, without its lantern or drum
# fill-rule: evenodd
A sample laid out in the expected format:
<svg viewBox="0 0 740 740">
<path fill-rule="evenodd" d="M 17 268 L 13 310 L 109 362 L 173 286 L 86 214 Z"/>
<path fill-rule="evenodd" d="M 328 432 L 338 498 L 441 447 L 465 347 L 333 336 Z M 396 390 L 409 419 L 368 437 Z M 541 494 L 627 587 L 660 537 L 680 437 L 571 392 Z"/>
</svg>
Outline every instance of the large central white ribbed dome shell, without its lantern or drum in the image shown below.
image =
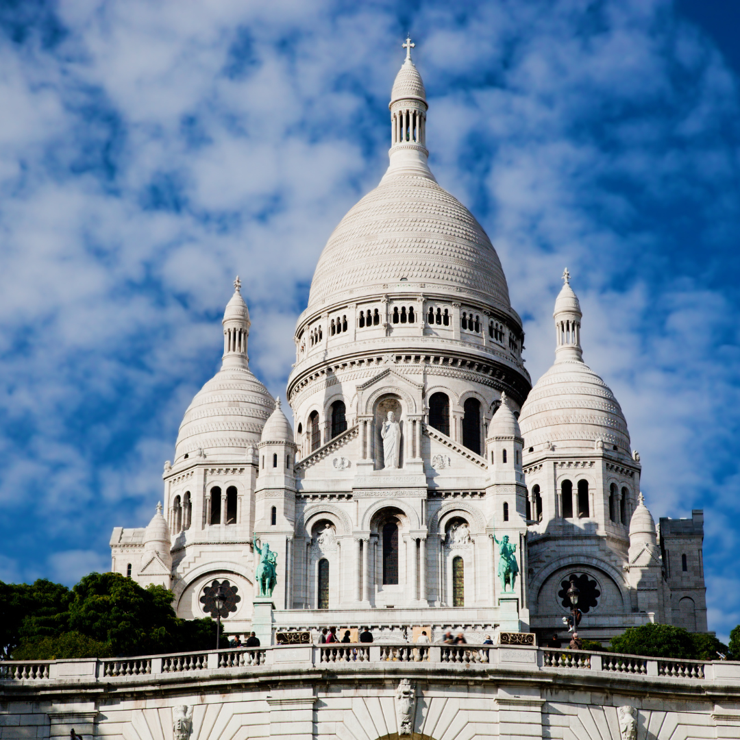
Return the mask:
<svg viewBox="0 0 740 740">
<path fill-rule="evenodd" d="M 471 212 L 431 178 L 388 172 L 329 237 L 309 310 L 348 287 L 360 296 L 402 277 L 426 289 L 476 292 L 510 309 L 499 257 Z"/>
</svg>

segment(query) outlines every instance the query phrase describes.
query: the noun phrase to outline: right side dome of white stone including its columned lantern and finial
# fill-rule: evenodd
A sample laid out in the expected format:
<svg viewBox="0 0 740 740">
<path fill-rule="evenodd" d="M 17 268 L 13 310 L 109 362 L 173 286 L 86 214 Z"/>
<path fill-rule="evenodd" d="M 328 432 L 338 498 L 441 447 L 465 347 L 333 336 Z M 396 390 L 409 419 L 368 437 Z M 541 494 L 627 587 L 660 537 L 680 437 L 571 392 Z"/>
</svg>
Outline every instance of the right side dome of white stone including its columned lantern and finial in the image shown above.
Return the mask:
<svg viewBox="0 0 740 740">
<path fill-rule="evenodd" d="M 519 414 L 525 448 L 593 450 L 603 446 L 630 456 L 630 434 L 609 386 L 582 360 L 581 309 L 566 270 L 554 313 L 554 365 L 535 383 Z"/>
</svg>

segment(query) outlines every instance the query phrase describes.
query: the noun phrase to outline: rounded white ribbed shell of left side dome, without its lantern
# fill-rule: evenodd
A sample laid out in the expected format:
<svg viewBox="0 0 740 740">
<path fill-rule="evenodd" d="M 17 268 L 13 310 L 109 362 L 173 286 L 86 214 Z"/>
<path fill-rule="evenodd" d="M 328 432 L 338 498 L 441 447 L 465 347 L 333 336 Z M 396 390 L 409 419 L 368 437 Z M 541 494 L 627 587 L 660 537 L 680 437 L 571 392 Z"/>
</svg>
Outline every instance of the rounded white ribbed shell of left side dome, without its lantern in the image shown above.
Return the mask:
<svg viewBox="0 0 740 740">
<path fill-rule="evenodd" d="M 243 367 L 222 369 L 198 391 L 185 412 L 175 445 L 175 462 L 202 449 L 210 460 L 244 457 L 260 441 L 275 402 L 267 388 Z"/>
</svg>

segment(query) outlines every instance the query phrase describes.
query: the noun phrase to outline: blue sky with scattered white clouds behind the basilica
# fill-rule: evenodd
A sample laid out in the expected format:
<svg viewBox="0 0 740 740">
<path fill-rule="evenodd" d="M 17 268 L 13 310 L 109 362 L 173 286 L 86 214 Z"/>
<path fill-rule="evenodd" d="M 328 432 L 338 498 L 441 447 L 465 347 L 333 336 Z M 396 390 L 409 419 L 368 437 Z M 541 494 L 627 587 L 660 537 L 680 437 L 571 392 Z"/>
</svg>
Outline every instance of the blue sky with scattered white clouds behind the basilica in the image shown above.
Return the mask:
<svg viewBox="0 0 740 740">
<path fill-rule="evenodd" d="M 238 273 L 284 394 L 320 250 L 387 164 L 410 31 L 431 166 L 553 357 L 568 266 L 653 515 L 705 511 L 740 622 L 740 11 L 721 0 L 0 2 L 0 578 L 107 568 L 161 498 Z"/>
</svg>

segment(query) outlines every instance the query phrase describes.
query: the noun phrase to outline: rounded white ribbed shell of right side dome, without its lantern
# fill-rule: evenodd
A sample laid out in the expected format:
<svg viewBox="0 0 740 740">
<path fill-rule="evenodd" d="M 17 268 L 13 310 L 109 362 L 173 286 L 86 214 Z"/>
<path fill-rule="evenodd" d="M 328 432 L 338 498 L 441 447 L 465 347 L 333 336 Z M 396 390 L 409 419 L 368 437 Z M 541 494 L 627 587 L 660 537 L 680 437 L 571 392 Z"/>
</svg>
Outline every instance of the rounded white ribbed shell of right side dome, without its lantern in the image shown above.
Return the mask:
<svg viewBox="0 0 740 740">
<path fill-rule="evenodd" d="M 535 384 L 519 414 L 525 448 L 545 442 L 556 448 L 593 450 L 617 445 L 629 454 L 630 435 L 609 386 L 585 363 L 555 363 Z"/>
</svg>

